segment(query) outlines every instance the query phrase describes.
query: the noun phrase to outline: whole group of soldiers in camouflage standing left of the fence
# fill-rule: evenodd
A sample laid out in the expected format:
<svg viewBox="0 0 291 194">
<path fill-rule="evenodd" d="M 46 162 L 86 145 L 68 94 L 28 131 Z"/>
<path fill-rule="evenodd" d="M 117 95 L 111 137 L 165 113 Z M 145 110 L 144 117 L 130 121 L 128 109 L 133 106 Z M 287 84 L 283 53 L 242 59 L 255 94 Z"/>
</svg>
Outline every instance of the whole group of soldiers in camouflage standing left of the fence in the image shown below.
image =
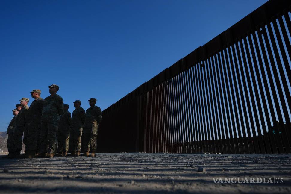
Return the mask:
<svg viewBox="0 0 291 194">
<path fill-rule="evenodd" d="M 19 100 L 7 128 L 9 153 L 2 158 L 96 156 L 98 125 L 102 119 L 101 109 L 95 106 L 96 98 L 88 100 L 90 107 L 86 112 L 80 100 L 73 102 L 75 110 L 71 117 L 69 105 L 63 103 L 58 90 L 56 84 L 49 86 L 51 95 L 45 99 L 40 97 L 40 90 L 32 90 L 34 101 L 30 107 L 28 98 Z M 22 142 L 25 153 L 21 155 Z M 84 154 L 80 155 L 82 145 Z M 71 154 L 67 155 L 68 151 Z"/>
</svg>

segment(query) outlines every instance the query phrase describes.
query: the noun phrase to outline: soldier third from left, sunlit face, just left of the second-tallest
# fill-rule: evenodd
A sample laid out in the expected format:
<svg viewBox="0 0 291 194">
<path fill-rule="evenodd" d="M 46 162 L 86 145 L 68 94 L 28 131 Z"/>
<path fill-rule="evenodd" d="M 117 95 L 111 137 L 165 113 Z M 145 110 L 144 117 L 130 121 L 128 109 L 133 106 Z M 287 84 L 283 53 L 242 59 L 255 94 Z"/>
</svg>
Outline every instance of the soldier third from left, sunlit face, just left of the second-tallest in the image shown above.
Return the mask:
<svg viewBox="0 0 291 194">
<path fill-rule="evenodd" d="M 13 129 L 13 155 L 10 158 L 19 158 L 22 150 L 22 135 L 25 129 L 25 116 L 28 112 L 28 98 L 21 98 L 20 104 L 22 109 L 19 111 L 16 118 L 16 127 Z"/>
</svg>

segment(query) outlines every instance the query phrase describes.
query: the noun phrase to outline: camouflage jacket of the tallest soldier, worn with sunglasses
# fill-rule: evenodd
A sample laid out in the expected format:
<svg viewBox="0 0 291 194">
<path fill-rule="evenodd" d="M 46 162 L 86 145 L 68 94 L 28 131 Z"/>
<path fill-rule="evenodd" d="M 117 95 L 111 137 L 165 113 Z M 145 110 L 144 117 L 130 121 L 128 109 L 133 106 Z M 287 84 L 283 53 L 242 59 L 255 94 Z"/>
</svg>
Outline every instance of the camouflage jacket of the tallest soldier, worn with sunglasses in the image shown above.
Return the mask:
<svg viewBox="0 0 291 194">
<path fill-rule="evenodd" d="M 59 122 L 60 115 L 64 113 L 63 98 L 55 94 L 48 96 L 43 101 L 41 122 Z"/>
</svg>

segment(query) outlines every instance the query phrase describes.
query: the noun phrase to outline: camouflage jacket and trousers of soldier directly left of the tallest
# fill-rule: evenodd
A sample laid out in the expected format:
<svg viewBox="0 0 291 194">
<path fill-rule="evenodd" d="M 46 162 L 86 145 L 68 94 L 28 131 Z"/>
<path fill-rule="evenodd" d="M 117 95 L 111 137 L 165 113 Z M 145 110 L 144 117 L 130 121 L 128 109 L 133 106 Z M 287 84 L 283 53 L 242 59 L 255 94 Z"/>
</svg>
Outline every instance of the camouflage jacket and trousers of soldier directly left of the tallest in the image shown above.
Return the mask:
<svg viewBox="0 0 291 194">
<path fill-rule="evenodd" d="M 28 109 L 25 118 L 27 128 L 27 139 L 25 151 L 31 150 L 40 152 L 40 119 L 43 110 L 43 98 L 35 99 Z"/>
</svg>

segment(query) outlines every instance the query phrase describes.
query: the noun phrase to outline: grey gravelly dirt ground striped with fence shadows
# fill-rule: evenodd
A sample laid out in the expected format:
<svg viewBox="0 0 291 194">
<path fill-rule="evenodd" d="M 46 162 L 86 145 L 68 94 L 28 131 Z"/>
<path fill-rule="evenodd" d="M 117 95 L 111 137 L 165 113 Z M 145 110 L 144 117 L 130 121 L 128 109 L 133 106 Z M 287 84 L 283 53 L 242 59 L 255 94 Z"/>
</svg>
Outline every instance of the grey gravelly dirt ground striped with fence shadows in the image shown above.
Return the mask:
<svg viewBox="0 0 291 194">
<path fill-rule="evenodd" d="M 0 193 L 291 193 L 290 159 L 290 154 L 143 153 L 0 158 Z M 283 179 L 281 183 L 212 179 L 257 177 Z"/>
</svg>

